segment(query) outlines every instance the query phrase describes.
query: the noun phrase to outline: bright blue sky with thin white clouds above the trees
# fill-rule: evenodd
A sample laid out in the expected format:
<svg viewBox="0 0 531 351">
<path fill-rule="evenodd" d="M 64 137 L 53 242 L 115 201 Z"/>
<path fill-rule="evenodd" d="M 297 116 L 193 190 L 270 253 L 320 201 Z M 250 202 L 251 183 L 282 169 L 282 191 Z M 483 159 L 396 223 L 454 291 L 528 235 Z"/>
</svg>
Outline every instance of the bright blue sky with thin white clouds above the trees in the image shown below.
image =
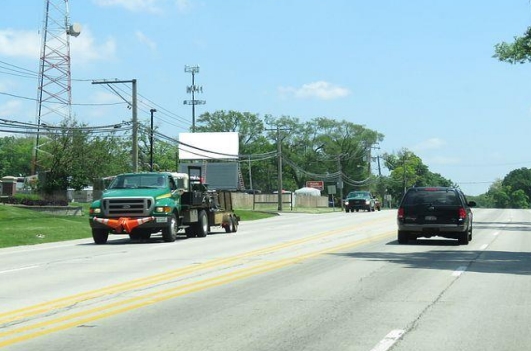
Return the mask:
<svg viewBox="0 0 531 351">
<path fill-rule="evenodd" d="M 38 72 L 44 3 L 2 0 L 1 62 Z M 206 104 L 196 115 L 361 124 L 384 134 L 377 152 L 407 148 L 470 195 L 531 167 L 531 63 L 492 58 L 496 43 L 531 25 L 527 0 L 74 0 L 69 8 L 83 28 L 70 39 L 81 122 L 129 120 L 124 104 L 99 105 L 122 100 L 91 81 L 137 79 L 139 118 L 157 108 L 155 124 L 176 137 L 192 120 L 184 66 L 199 65 L 196 98 Z M 36 78 L 0 69 L 0 118 L 34 122 L 36 96 Z"/>
</svg>

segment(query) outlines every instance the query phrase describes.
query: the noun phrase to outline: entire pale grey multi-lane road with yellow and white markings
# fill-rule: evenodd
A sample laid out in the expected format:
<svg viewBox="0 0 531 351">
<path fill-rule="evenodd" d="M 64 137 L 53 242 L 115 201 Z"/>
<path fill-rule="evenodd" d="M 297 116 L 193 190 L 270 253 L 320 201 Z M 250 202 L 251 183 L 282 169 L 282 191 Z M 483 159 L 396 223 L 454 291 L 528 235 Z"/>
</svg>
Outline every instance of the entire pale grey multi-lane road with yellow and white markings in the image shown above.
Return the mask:
<svg viewBox="0 0 531 351">
<path fill-rule="evenodd" d="M 0 349 L 531 349 L 530 210 L 475 209 L 466 246 L 398 245 L 395 216 L 2 249 Z"/>
</svg>

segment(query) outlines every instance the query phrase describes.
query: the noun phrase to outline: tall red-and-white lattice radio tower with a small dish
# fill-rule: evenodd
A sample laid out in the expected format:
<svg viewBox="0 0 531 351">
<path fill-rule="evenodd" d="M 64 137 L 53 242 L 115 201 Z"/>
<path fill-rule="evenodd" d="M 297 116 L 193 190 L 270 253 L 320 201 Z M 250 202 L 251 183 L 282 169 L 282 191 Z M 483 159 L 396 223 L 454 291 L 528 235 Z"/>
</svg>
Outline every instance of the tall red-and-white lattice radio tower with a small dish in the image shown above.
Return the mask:
<svg viewBox="0 0 531 351">
<path fill-rule="evenodd" d="M 79 24 L 70 24 L 68 0 L 44 1 L 33 174 L 37 172 L 39 134 L 44 119 L 63 120 L 72 114 L 70 36 L 77 37 L 80 33 Z"/>
</svg>

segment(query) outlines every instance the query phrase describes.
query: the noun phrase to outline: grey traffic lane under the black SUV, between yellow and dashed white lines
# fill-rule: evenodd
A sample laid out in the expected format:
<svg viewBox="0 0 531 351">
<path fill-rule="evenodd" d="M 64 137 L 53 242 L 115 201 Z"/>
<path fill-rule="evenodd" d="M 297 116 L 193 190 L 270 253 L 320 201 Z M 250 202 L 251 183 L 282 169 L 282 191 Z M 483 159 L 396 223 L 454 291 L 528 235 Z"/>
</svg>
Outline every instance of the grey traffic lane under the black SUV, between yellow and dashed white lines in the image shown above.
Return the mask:
<svg viewBox="0 0 531 351">
<path fill-rule="evenodd" d="M 456 266 L 475 257 L 472 248 L 386 238 L 98 320 L 89 331 L 70 330 L 70 341 L 59 338 L 63 332 L 36 339 L 35 346 L 68 348 L 90 339 L 105 349 L 370 350 L 437 304 L 459 279 Z M 432 260 L 424 257 L 430 251 L 437 255 Z M 135 321 L 141 323 L 135 333 L 120 328 Z M 198 337 L 198 331 L 208 332 Z"/>
</svg>

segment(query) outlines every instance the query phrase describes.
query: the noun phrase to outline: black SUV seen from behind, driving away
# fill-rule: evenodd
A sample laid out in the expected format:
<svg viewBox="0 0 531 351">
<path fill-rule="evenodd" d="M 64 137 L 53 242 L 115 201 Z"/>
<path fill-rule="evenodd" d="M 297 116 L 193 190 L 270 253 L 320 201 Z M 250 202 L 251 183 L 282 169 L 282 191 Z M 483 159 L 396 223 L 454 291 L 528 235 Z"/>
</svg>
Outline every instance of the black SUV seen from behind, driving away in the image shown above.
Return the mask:
<svg viewBox="0 0 531 351">
<path fill-rule="evenodd" d="M 467 245 L 472 240 L 474 206 L 476 203 L 467 201 L 457 188 L 410 188 L 398 208 L 398 243 L 441 236 Z"/>
</svg>

